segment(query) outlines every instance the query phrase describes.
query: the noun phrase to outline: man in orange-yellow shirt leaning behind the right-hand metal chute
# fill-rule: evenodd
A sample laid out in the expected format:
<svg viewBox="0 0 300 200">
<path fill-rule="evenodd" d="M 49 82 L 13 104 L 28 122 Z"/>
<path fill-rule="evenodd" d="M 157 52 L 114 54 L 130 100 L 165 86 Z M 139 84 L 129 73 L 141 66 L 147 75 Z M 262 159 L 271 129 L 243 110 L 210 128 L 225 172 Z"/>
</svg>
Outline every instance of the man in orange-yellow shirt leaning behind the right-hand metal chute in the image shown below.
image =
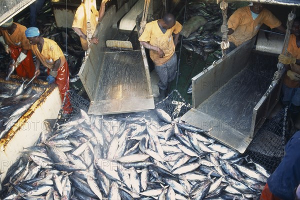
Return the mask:
<svg viewBox="0 0 300 200">
<path fill-rule="evenodd" d="M 285 33 L 281 22 L 261 3 L 253 2 L 252 5 L 240 7 L 228 19 L 228 25 L 221 26 L 221 32 L 227 32 L 229 48 L 227 53 L 254 37 L 262 24 L 270 28 L 277 28 Z"/>
</svg>

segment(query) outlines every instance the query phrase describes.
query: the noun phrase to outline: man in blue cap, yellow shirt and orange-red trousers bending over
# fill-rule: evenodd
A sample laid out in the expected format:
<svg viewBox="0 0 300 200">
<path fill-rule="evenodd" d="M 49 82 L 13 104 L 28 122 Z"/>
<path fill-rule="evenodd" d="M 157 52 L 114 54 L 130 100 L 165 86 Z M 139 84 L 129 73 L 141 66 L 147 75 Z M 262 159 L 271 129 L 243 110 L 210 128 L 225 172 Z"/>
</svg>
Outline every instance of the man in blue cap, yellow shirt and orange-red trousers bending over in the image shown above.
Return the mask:
<svg viewBox="0 0 300 200">
<path fill-rule="evenodd" d="M 29 27 L 25 31 L 27 39 L 30 41 L 31 50 L 36 56 L 35 74 L 40 74 L 40 64 L 47 68 L 48 84 L 56 83 L 60 92 L 61 101 L 69 88 L 69 70 L 66 59 L 58 44 L 48 38 L 39 36 L 39 30 L 36 27 Z M 70 101 L 66 96 L 63 114 L 71 112 Z"/>
</svg>

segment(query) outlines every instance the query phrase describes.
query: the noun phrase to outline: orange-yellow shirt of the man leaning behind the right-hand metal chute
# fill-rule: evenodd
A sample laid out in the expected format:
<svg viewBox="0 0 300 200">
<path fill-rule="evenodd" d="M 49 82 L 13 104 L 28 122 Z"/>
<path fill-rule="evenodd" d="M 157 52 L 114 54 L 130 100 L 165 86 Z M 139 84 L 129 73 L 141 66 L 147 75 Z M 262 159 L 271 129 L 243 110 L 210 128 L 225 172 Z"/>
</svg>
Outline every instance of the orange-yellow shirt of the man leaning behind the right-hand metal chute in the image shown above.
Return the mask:
<svg viewBox="0 0 300 200">
<path fill-rule="evenodd" d="M 249 6 L 238 8 L 228 19 L 228 28 L 234 30 L 231 35 L 228 35 L 228 40 L 239 46 L 254 37 L 263 23 L 270 28 L 281 25 L 281 22 L 265 8 L 254 20 Z"/>
</svg>

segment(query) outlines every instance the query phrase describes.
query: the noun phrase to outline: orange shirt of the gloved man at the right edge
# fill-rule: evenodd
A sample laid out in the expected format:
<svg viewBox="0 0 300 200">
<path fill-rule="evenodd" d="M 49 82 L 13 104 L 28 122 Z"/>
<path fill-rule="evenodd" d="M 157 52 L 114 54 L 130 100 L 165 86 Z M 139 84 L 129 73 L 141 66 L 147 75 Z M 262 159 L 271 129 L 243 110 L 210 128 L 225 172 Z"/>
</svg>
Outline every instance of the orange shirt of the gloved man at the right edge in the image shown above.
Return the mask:
<svg viewBox="0 0 300 200">
<path fill-rule="evenodd" d="M 295 57 L 296 59 L 300 59 L 300 48 L 297 47 L 296 44 L 296 36 L 294 34 L 290 34 L 288 46 L 287 46 L 288 53 L 291 54 L 292 57 Z M 296 72 L 300 76 L 300 65 L 297 64 L 290 64 L 290 70 L 293 72 Z M 300 87 L 300 83 L 297 81 L 290 80 L 290 78 L 285 74 L 283 83 L 287 87 Z"/>
</svg>

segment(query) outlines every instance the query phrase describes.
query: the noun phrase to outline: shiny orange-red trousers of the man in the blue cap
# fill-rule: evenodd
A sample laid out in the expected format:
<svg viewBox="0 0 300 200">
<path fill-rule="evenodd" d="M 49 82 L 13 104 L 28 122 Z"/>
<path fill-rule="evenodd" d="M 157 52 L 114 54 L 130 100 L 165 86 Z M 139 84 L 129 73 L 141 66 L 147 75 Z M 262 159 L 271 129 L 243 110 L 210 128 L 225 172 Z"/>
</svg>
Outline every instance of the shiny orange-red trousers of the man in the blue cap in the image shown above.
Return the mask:
<svg viewBox="0 0 300 200">
<path fill-rule="evenodd" d="M 47 70 L 48 75 L 49 72 L 50 69 Z M 63 101 L 64 95 L 69 89 L 69 71 L 67 62 L 65 62 L 61 67 L 58 68 L 55 83 L 58 85 L 61 101 Z M 63 112 L 64 114 L 70 114 L 72 112 L 71 103 L 68 95 L 65 96 Z"/>
</svg>

